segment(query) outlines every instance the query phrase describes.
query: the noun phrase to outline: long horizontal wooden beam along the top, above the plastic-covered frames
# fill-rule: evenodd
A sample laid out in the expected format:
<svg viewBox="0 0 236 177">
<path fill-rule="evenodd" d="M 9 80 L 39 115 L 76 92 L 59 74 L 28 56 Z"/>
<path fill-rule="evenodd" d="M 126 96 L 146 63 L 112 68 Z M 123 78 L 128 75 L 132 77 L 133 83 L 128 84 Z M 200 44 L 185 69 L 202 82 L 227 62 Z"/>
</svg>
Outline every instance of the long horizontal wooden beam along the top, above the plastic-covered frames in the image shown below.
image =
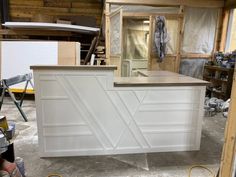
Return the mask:
<svg viewBox="0 0 236 177">
<path fill-rule="evenodd" d="M 107 0 L 106 2 L 124 5 L 224 7 L 224 0 Z"/>
</svg>

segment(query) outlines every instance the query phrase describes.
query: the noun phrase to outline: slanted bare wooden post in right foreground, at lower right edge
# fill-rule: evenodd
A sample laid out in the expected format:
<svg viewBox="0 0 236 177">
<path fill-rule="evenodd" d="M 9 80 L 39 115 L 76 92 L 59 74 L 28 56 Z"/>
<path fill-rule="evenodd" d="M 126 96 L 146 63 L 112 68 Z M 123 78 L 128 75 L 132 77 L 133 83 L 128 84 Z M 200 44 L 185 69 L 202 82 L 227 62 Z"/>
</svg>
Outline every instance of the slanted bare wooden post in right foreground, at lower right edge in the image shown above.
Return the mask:
<svg viewBox="0 0 236 177">
<path fill-rule="evenodd" d="M 236 142 L 236 70 L 231 92 L 230 108 L 225 128 L 225 143 L 221 156 L 220 177 L 231 177 L 235 157 Z"/>
</svg>

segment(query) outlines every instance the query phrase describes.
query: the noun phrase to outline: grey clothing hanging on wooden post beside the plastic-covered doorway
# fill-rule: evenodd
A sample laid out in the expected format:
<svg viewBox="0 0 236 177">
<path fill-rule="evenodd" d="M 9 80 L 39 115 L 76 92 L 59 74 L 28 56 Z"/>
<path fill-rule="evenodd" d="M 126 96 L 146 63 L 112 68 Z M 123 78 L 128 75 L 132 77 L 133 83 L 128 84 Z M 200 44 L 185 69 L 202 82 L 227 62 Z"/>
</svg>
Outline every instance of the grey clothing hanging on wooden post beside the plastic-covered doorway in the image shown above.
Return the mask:
<svg viewBox="0 0 236 177">
<path fill-rule="evenodd" d="M 159 61 L 162 62 L 167 53 L 167 42 L 169 37 L 166 29 L 166 19 L 164 16 L 157 16 L 155 23 L 154 44 Z"/>
</svg>

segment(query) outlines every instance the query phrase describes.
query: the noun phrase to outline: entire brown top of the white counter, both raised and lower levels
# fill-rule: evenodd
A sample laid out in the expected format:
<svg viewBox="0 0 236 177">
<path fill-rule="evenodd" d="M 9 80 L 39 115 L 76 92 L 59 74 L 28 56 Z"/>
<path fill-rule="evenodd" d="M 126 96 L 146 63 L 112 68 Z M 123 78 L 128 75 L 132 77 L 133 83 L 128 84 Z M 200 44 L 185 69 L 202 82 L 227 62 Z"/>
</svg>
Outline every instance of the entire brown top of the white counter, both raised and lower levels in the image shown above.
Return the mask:
<svg viewBox="0 0 236 177">
<path fill-rule="evenodd" d="M 33 70 L 116 70 L 117 66 L 60 66 L 60 65 L 34 65 L 30 66 Z M 154 87 L 154 86 L 206 86 L 209 82 L 195 79 L 178 73 L 169 71 L 139 71 L 141 77 L 115 77 L 115 87 Z"/>
</svg>

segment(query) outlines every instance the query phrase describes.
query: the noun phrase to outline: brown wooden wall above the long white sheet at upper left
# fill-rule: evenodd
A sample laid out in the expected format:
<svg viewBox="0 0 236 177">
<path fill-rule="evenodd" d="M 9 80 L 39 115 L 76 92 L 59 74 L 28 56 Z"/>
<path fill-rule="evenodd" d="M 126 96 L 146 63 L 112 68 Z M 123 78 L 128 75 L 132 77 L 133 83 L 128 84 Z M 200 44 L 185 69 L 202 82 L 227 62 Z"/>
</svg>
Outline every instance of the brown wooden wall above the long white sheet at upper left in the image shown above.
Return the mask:
<svg viewBox="0 0 236 177">
<path fill-rule="evenodd" d="M 97 0 L 9 0 L 10 18 L 14 21 L 35 21 L 39 15 L 50 19 L 37 22 L 55 22 L 58 16 L 88 16 L 94 17 L 100 26 L 101 7 Z"/>
</svg>

